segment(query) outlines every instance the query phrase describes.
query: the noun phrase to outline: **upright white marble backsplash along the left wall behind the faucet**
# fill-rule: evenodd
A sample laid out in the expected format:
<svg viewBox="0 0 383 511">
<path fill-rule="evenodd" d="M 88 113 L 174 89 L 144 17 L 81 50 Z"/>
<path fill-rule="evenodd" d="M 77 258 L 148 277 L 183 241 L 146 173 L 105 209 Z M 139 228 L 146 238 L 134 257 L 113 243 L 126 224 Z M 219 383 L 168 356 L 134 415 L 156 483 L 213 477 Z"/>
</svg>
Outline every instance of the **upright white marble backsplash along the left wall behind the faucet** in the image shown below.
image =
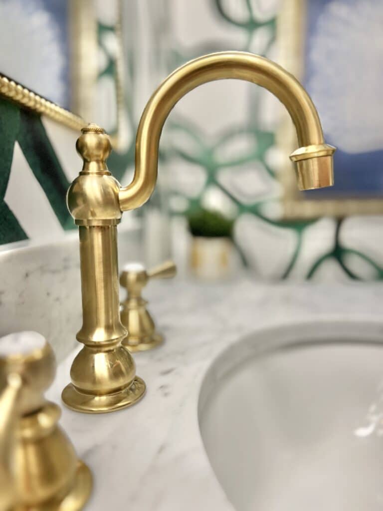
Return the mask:
<svg viewBox="0 0 383 511">
<path fill-rule="evenodd" d="M 140 259 L 141 228 L 119 229 L 118 258 Z M 76 345 L 81 327 L 77 230 L 51 243 L 19 242 L 0 250 L 0 336 L 34 330 L 59 360 Z"/>
</svg>

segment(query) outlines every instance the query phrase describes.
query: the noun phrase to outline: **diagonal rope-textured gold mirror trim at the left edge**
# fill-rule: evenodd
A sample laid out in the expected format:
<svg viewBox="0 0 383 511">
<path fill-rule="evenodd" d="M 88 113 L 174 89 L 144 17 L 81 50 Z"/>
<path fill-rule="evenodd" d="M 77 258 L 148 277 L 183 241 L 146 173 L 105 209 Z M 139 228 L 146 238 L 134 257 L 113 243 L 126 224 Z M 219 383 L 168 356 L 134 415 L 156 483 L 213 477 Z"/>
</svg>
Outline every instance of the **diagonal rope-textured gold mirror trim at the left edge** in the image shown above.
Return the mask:
<svg viewBox="0 0 383 511">
<path fill-rule="evenodd" d="M 23 87 L 13 80 L 9 80 L 6 76 L 1 74 L 0 95 L 14 101 L 20 106 L 46 115 L 46 117 L 77 131 L 80 131 L 88 124 L 79 115 L 69 112 L 69 110 L 65 110 L 65 108 L 56 105 L 56 103 L 52 103 L 38 96 L 26 87 Z"/>
</svg>

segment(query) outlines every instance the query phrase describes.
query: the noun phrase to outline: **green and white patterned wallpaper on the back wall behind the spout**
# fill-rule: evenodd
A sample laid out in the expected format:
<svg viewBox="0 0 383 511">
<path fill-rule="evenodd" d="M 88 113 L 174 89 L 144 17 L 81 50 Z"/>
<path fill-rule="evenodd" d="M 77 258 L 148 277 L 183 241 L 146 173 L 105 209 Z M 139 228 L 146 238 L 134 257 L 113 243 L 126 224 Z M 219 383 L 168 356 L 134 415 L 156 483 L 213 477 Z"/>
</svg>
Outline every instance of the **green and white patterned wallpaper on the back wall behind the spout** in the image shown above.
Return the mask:
<svg viewBox="0 0 383 511">
<path fill-rule="evenodd" d="M 331 9 L 330 0 L 322 3 Z M 354 3 L 372 6 L 369 0 Z M 169 0 L 169 70 L 200 54 L 227 49 L 278 61 L 278 44 L 283 41 L 276 38 L 276 16 L 282 4 L 286 8 L 289 0 Z M 167 127 L 173 150 L 167 162 L 171 209 L 184 213 L 217 208 L 234 217 L 237 250 L 258 278 L 382 278 L 380 217 L 289 222 L 281 218 L 278 173 L 288 155 L 277 147 L 280 115 L 279 104 L 268 91 L 235 81 L 210 83 L 183 98 Z"/>
</svg>

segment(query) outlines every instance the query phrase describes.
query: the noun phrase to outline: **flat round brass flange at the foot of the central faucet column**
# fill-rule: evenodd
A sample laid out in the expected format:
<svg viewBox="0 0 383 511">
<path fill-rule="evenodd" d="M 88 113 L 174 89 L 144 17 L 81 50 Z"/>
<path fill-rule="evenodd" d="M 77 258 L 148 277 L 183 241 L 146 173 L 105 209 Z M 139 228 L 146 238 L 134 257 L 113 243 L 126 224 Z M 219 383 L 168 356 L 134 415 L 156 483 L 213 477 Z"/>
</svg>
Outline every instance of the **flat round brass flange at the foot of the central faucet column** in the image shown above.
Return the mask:
<svg viewBox="0 0 383 511">
<path fill-rule="evenodd" d="M 145 391 L 145 382 L 135 376 L 128 387 L 101 396 L 80 392 L 73 383 L 69 383 L 62 391 L 61 399 L 71 410 L 83 413 L 108 413 L 134 405 L 143 397 Z"/>
</svg>

